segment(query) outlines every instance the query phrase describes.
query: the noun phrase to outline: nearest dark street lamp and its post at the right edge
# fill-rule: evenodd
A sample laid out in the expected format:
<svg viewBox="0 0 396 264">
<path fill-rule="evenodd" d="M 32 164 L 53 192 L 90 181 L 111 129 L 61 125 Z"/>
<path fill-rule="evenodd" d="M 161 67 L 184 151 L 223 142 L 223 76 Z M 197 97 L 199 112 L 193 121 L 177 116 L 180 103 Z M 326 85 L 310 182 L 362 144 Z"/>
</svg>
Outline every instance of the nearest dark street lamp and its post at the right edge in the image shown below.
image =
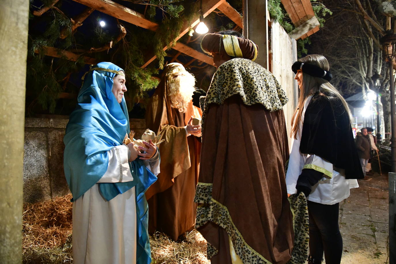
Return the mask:
<svg viewBox="0 0 396 264">
<path fill-rule="evenodd" d="M 395 116 L 395 85 L 393 76 L 393 59 L 396 51 L 396 34 L 387 30 L 386 35 L 381 38 L 383 52 L 388 60 L 389 84 L 390 84 L 390 126 L 392 136 L 390 138 L 390 148 L 392 150 L 391 172 L 396 172 L 396 116 Z"/>
</svg>

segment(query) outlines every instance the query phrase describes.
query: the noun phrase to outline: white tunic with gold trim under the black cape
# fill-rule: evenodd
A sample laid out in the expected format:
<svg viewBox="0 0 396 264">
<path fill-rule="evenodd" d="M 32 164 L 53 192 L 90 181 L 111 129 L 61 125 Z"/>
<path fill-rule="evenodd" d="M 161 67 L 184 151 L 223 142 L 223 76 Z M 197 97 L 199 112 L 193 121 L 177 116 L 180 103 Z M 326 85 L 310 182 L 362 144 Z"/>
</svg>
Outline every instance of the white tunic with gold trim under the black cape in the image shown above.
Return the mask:
<svg viewBox="0 0 396 264">
<path fill-rule="evenodd" d="M 295 194 L 297 192 L 295 188 L 297 179 L 304 168 L 315 169 L 316 171 L 323 172 L 326 177 L 312 186 L 312 192 L 307 200 L 315 203 L 332 205 L 347 198 L 350 194 L 349 189 L 358 188 L 359 185 L 356 179 L 345 179 L 345 172 L 343 169 L 334 167 L 333 164 L 316 155 L 302 154 L 300 152 L 301 131 L 303 130 L 305 110 L 311 98 L 312 95 L 309 96 L 304 103 L 297 139 L 294 139 L 294 137 L 292 138 L 289 165 L 286 172 L 287 193 Z M 326 131 L 324 131 L 324 133 L 325 132 Z"/>
</svg>

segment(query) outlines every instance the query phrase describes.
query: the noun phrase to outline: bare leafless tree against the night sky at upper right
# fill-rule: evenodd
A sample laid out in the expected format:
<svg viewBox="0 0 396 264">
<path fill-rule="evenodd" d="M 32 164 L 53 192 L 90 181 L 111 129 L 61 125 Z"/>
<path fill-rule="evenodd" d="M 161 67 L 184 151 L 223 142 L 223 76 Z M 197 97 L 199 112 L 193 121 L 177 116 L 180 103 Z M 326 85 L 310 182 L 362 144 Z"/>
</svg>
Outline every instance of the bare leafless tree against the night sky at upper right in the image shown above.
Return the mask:
<svg viewBox="0 0 396 264">
<path fill-rule="evenodd" d="M 390 132 L 390 92 L 388 70 L 383 59 L 380 39 L 385 34 L 385 16 L 368 0 L 325 0 L 333 15 L 326 19 L 326 26 L 312 37 L 312 52 L 322 53 L 329 59 L 333 72 L 333 84 L 344 94 L 375 91 L 381 95 L 383 125 Z M 372 76 L 381 74 L 379 87 Z M 382 119 L 382 117 L 381 117 Z"/>
</svg>

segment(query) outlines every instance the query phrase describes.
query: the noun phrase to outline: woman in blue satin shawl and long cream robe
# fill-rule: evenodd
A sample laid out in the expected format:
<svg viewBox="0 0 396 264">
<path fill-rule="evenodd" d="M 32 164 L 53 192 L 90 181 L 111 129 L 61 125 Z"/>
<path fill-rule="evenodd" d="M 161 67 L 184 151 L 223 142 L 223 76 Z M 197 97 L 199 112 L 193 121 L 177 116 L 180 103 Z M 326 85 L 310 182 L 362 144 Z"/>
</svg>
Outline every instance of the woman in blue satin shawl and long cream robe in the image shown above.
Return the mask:
<svg viewBox="0 0 396 264">
<path fill-rule="evenodd" d="M 74 264 L 149 264 L 145 191 L 157 179 L 159 152 L 122 144 L 129 132 L 125 73 L 108 63 L 83 77 L 66 127 L 65 177 L 73 195 Z"/>
</svg>

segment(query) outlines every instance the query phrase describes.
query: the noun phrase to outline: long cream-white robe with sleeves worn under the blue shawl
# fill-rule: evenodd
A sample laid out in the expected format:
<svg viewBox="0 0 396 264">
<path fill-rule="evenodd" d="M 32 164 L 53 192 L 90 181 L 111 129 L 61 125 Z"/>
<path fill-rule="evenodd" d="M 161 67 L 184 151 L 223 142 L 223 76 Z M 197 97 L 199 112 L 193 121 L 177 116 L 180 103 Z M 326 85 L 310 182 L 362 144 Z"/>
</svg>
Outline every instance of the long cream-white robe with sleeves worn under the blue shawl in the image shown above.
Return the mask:
<svg viewBox="0 0 396 264">
<path fill-rule="evenodd" d="M 107 171 L 98 183 L 132 181 L 128 147 L 116 146 L 108 155 Z M 145 165 L 158 175 L 158 152 L 151 160 L 144 160 Z M 73 263 L 135 264 L 136 225 L 135 187 L 106 201 L 95 184 L 73 203 Z"/>
</svg>

